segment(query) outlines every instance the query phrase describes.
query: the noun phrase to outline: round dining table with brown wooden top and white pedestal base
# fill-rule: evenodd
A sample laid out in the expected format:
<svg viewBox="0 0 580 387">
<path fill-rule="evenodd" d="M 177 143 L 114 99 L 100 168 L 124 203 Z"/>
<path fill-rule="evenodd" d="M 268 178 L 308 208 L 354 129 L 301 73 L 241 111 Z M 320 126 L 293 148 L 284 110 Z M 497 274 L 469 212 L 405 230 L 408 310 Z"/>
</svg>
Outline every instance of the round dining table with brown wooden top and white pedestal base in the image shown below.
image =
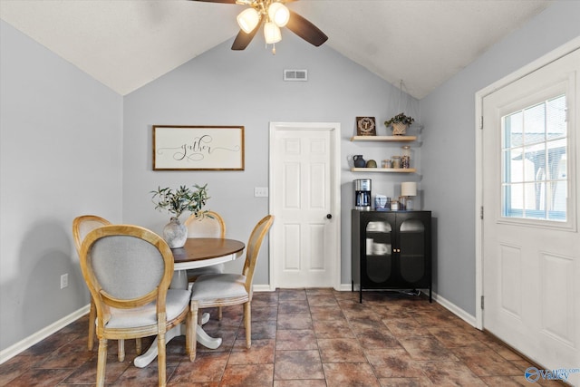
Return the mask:
<svg viewBox="0 0 580 387">
<path fill-rule="evenodd" d="M 233 261 L 244 254 L 246 245 L 236 239 L 225 239 L 220 237 L 190 237 L 184 247 L 173 248 L 173 278 L 171 279 L 172 288 L 188 288 L 188 269 L 198 267 L 207 267 Z M 209 318 L 204 314 L 202 321 L 205 323 Z M 165 335 L 166 344 L 179 335 L 185 334 L 185 326 L 178 325 L 169 330 Z M 221 338 L 211 337 L 203 327 L 198 326 L 196 330 L 196 339 L 198 343 L 205 345 L 210 349 L 216 349 L 221 345 Z M 143 368 L 151 363 L 157 357 L 157 337 L 151 343 L 149 350 L 135 358 L 134 364 Z"/>
</svg>

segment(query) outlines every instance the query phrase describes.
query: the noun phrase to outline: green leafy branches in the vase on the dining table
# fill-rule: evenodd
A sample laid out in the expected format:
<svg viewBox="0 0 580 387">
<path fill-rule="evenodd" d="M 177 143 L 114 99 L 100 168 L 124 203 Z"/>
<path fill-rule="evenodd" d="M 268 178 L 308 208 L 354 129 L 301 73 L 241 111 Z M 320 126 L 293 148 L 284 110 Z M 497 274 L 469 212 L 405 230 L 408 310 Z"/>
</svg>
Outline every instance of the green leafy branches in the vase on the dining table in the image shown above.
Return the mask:
<svg viewBox="0 0 580 387">
<path fill-rule="evenodd" d="M 186 186 L 181 186 L 175 191 L 159 187 L 150 192 L 153 195 L 151 201 L 155 203 L 155 209 L 167 210 L 175 218 L 179 218 L 184 211 L 189 211 L 196 217 L 204 216 L 207 211 L 203 211 L 202 208 L 209 198 L 208 184 L 203 187 L 196 184 L 194 187 L 195 189 L 189 189 Z"/>
</svg>

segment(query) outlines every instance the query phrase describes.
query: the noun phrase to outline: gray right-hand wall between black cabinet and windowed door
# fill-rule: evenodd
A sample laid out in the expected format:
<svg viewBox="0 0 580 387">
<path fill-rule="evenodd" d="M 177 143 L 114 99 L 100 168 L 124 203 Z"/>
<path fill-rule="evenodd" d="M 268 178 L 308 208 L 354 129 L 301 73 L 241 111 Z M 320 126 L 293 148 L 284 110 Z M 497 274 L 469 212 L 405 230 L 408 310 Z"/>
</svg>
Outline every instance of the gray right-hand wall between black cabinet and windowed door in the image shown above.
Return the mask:
<svg viewBox="0 0 580 387">
<path fill-rule="evenodd" d="M 560 1 L 420 102 L 422 189 L 437 218 L 435 290 L 475 315 L 475 93 L 580 36 L 580 2 Z"/>
</svg>

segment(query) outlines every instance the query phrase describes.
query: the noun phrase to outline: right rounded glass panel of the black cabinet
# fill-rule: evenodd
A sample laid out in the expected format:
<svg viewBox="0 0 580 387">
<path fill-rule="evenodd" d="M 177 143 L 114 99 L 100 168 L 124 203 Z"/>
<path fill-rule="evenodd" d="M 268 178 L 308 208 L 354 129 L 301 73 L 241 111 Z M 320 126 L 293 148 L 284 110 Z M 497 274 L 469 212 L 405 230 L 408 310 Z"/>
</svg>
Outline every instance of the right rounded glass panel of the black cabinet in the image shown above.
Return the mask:
<svg viewBox="0 0 580 387">
<path fill-rule="evenodd" d="M 425 276 L 425 226 L 418 219 L 407 219 L 399 228 L 401 277 L 410 283 Z"/>
</svg>

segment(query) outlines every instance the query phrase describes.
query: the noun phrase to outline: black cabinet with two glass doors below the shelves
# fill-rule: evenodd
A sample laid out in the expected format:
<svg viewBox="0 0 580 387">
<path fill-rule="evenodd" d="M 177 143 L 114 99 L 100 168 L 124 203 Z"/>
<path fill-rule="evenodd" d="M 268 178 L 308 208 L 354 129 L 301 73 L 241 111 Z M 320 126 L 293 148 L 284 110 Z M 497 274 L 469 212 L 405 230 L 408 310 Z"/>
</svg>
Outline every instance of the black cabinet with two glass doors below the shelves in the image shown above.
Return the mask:
<svg viewBox="0 0 580 387">
<path fill-rule="evenodd" d="M 429 289 L 431 212 L 352 212 L 352 286 L 362 290 Z"/>
</svg>

